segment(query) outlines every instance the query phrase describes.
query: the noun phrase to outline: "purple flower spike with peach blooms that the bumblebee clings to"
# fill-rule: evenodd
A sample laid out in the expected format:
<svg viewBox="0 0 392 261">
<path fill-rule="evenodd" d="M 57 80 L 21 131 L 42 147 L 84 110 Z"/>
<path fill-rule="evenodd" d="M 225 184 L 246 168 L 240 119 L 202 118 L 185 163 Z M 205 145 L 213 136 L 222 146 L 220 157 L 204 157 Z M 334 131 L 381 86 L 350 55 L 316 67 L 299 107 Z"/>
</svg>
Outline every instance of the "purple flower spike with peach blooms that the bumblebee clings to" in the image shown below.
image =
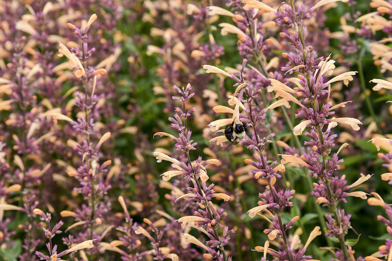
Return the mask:
<svg viewBox="0 0 392 261">
<path fill-rule="evenodd" d="M 255 178 L 265 179 L 268 186 L 265 193 L 259 194 L 259 197 L 261 198 L 261 200 L 258 202 L 259 206 L 254 207 L 248 211 L 249 217 L 253 218 L 256 215 L 263 216 L 259 213 L 262 211 L 266 211 L 273 218 L 273 221 L 271 222 L 273 225 L 273 229 L 265 229 L 264 233 L 268 234 L 271 240 L 277 237 L 283 239 L 284 245 L 282 246 L 282 250 L 278 252 L 280 254 L 280 260 L 292 261 L 295 260 L 296 257 L 305 258 L 303 254 L 306 249 L 303 249 L 298 253 L 294 253 L 293 249 L 290 247 L 290 242 L 287 236 L 287 230 L 291 228 L 294 221 L 298 218 L 292 219 L 286 226 L 283 224 L 281 218 L 283 208 L 293 206 L 293 203 L 290 201 L 290 199 L 293 197 L 295 191 L 282 189 L 276 190 L 274 186 L 276 179 L 281 177 L 281 174 L 279 174 L 279 172 L 284 172 L 285 168 L 283 165 L 277 165 L 277 161 L 274 161 L 269 164 L 267 161 L 267 157 L 263 154 L 266 149 L 266 144 L 271 143 L 270 139 L 274 136 L 274 133 L 270 133 L 267 137 L 264 138 L 261 138 L 258 134 L 258 130 L 260 130 L 261 125 L 265 119 L 264 114 L 268 111 L 268 109 L 276 108 L 282 105 L 288 105 L 287 102 L 289 100 L 293 101 L 295 100 L 295 98 L 288 92 L 282 90 L 282 92 L 287 93 L 287 95 L 282 94 L 283 96 L 285 96 L 284 98 L 286 98 L 285 100 L 283 100 L 283 102 L 278 102 L 276 105 L 268 109 L 260 109 L 259 111 L 256 110 L 257 106 L 254 106 L 253 103 L 257 99 L 257 96 L 261 93 L 261 91 L 254 89 L 252 84 L 245 83 L 243 75 L 245 71 L 245 65 L 246 59 L 244 59 L 242 69 L 238 73 L 240 82 L 238 84 L 235 84 L 235 86 L 238 85 L 238 87 L 233 93 L 233 95 L 229 96 L 230 100 L 228 101 L 228 103 L 232 106 L 235 105 L 235 109 L 230 109 L 224 106 L 217 106 L 214 108 L 215 112 L 233 113 L 232 119 L 214 121 L 209 124 L 209 127 L 211 128 L 211 131 L 217 131 L 221 126 L 224 126 L 225 124 L 230 124 L 231 122 L 236 123 L 237 119 L 243 123 L 248 123 L 248 125 L 252 127 L 251 136 L 245 136 L 245 139 L 241 142 L 241 144 L 246 145 L 249 150 L 256 150 L 256 161 L 245 159 L 245 163 L 255 167 L 254 170 L 251 170 L 252 173 L 255 174 Z M 244 94 L 246 95 L 246 99 L 244 99 L 243 97 Z M 297 103 L 299 104 L 299 102 Z M 243 113 L 241 114 L 239 112 L 240 107 L 243 108 Z M 222 136 L 219 136 L 212 139 L 210 142 L 213 141 L 218 141 L 217 143 L 220 144 L 221 141 L 224 141 L 224 138 Z M 270 220 L 268 221 L 270 222 Z"/>
</svg>

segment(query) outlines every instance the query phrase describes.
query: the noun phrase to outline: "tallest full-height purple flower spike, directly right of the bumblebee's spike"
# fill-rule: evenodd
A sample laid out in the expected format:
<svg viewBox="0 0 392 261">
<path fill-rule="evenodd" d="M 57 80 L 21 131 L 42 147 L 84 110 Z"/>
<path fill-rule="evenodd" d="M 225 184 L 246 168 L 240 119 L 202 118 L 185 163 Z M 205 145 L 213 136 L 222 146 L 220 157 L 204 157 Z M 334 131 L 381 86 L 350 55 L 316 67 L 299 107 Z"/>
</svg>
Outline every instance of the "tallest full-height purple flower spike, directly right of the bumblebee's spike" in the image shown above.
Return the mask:
<svg viewBox="0 0 392 261">
<path fill-rule="evenodd" d="M 344 107 L 347 102 L 333 106 L 330 101 L 330 85 L 343 81 L 347 86 L 349 81 L 353 80 L 353 75 L 356 72 L 345 72 L 327 81 L 324 78 L 325 74 L 330 75 L 333 72 L 335 61 L 330 60 L 329 57 L 326 59 L 316 58 L 317 54 L 313 47 L 305 44 L 307 30 L 303 25 L 304 20 L 310 18 L 312 12 L 317 8 L 331 1 L 322 0 L 307 11 L 305 4 L 301 4 L 298 9 L 295 9 L 294 1 L 289 2 L 290 5 L 283 4 L 276 13 L 278 17 L 276 22 L 294 29 L 292 35 L 280 33 L 280 36 L 286 39 L 293 48 L 290 53 L 283 54 L 289 63 L 282 67 L 282 70 L 290 74 L 298 73 L 298 85 L 291 88 L 279 81 L 271 80 L 269 91 L 275 91 L 275 97 L 289 99 L 299 106 L 295 117 L 303 120 L 294 127 L 293 131 L 295 135 L 300 135 L 309 126 L 309 131 L 305 132 L 309 141 L 304 142 L 308 149 L 302 152 L 300 157 L 282 155 L 281 163 L 293 162 L 302 165 L 311 171 L 311 176 L 319 179 L 318 183 L 314 183 L 314 191 L 311 194 L 317 197 L 317 203 L 328 206 L 334 214 L 334 218 L 326 215 L 328 229 L 326 236 L 334 237 L 340 243 L 340 250 L 335 253 L 336 259 L 350 260 L 352 252 L 351 248 L 347 247 L 344 236 L 350 227 L 351 215 L 346 215 L 344 210 L 338 207 L 338 203 L 346 202 L 346 196 L 366 199 L 367 196 L 364 192 L 348 193 L 346 191 L 366 181 L 370 175 L 360 178 L 360 183 L 356 182 L 347 186 L 345 176 L 339 177 L 336 173 L 340 169 L 339 164 L 343 162 L 342 159 L 339 159 L 338 154 L 348 144 L 343 144 L 338 152 L 332 153 L 337 134 L 332 134 L 331 129 L 341 124 L 358 131 L 360 129 L 358 125 L 361 122 L 355 118 L 331 117 L 335 114 L 336 109 Z"/>
</svg>

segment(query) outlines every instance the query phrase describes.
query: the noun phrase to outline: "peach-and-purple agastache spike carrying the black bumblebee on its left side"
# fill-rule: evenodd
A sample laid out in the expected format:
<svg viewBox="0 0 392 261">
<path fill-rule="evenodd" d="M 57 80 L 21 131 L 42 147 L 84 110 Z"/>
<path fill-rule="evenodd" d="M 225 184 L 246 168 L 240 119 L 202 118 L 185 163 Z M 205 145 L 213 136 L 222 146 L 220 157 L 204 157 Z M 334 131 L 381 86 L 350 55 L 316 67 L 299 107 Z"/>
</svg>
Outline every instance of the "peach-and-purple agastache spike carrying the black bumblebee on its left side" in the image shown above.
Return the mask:
<svg viewBox="0 0 392 261">
<path fill-rule="evenodd" d="M 276 257 L 278 260 L 289 260 L 289 261 L 296 261 L 296 260 L 308 260 L 311 257 L 305 256 L 305 251 L 307 246 L 309 245 L 310 241 L 313 240 L 314 237 L 320 234 L 319 227 L 316 228 L 314 231 L 312 239 L 309 239 L 307 244 L 304 248 L 299 250 L 297 247 L 297 243 L 300 241 L 299 237 L 293 241 L 289 241 L 288 237 L 288 230 L 292 227 L 293 223 L 298 220 L 298 217 L 292 218 L 292 220 L 288 224 L 284 224 L 282 221 L 282 214 L 283 209 L 285 207 L 293 206 L 293 203 L 290 201 L 293 198 L 295 193 L 294 190 L 284 190 L 284 189 L 276 189 L 275 182 L 277 178 L 281 178 L 282 175 L 280 173 L 285 172 L 284 165 L 278 165 L 277 161 L 273 161 L 269 163 L 267 160 L 267 156 L 265 155 L 266 145 L 271 143 L 270 139 L 274 136 L 274 133 L 270 133 L 270 135 L 261 138 L 259 131 L 264 125 L 265 114 L 270 109 L 275 109 L 280 106 L 286 106 L 290 108 L 287 99 L 281 99 L 276 101 L 275 103 L 271 104 L 268 108 L 261 109 L 254 104 L 254 100 L 257 99 L 257 96 L 261 93 L 260 88 L 254 88 L 252 84 L 245 83 L 244 79 L 244 71 L 245 71 L 246 59 L 243 61 L 243 65 L 240 72 L 236 72 L 235 74 L 239 75 L 237 78 L 235 75 L 229 75 L 227 72 L 221 71 L 216 67 L 205 65 L 204 68 L 208 69 L 207 72 L 215 72 L 221 73 L 230 76 L 231 79 L 235 80 L 237 83 L 234 85 L 237 87 L 235 92 L 230 97 L 228 101 L 229 105 L 235 106 L 234 109 L 224 107 L 224 106 L 217 106 L 214 108 L 215 112 L 224 112 L 224 113 L 232 113 L 233 117 L 228 119 L 221 119 L 214 121 L 209 124 L 211 131 L 221 132 L 223 130 L 219 130 L 222 126 L 227 124 L 230 125 L 240 125 L 246 124 L 247 127 L 251 127 L 251 135 L 244 137 L 244 140 L 240 142 L 241 145 L 245 145 L 247 149 L 252 150 L 255 149 L 255 161 L 250 159 L 245 159 L 245 163 L 249 164 L 253 167 L 252 173 L 254 174 L 255 178 L 261 178 L 265 180 L 265 184 L 267 185 L 266 191 L 264 193 L 260 193 L 259 197 L 261 200 L 258 202 L 257 207 L 254 207 L 248 211 L 249 217 L 254 218 L 256 215 L 265 218 L 268 222 L 270 222 L 272 229 L 265 229 L 264 233 L 268 234 L 270 240 L 274 240 L 280 238 L 283 242 L 279 244 L 279 251 L 273 251 L 273 256 Z M 243 97 L 244 94 L 246 95 L 246 99 Z M 240 113 L 240 108 L 243 109 L 243 113 Z M 229 128 L 229 127 L 227 127 Z M 224 133 L 227 133 L 227 128 L 225 129 Z M 222 146 L 222 143 L 225 141 L 231 141 L 228 135 L 224 136 L 217 136 L 210 140 L 210 142 L 217 142 L 218 145 Z M 259 214 L 259 212 L 266 212 L 266 216 Z M 270 220 L 272 219 L 272 221 Z M 317 231 L 317 232 L 316 232 Z M 269 241 L 266 242 L 269 245 Z M 268 246 L 264 247 L 256 247 L 256 250 L 259 249 L 266 249 L 265 253 L 267 253 Z M 269 253 L 270 253 L 269 252 Z M 266 256 L 264 256 L 264 260 Z"/>
</svg>

